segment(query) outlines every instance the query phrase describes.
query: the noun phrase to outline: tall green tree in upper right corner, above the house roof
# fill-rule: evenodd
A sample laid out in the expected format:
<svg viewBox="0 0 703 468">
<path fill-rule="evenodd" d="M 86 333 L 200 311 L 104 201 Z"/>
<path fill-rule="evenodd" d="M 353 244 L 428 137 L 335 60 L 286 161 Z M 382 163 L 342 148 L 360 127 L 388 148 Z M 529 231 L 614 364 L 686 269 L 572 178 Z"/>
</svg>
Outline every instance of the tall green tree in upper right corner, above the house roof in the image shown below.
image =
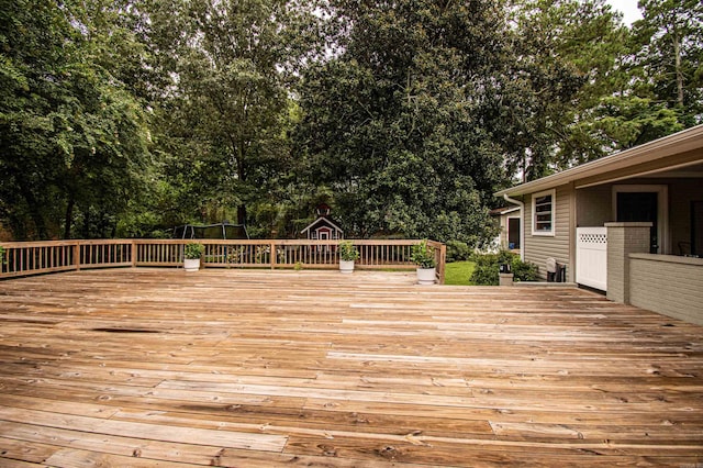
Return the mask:
<svg viewBox="0 0 703 468">
<path fill-rule="evenodd" d="M 585 159 L 695 125 L 703 116 L 703 7 L 700 1 L 646 0 L 611 74 L 610 94 L 574 125 Z M 577 158 L 578 159 L 578 158 Z"/>
</svg>

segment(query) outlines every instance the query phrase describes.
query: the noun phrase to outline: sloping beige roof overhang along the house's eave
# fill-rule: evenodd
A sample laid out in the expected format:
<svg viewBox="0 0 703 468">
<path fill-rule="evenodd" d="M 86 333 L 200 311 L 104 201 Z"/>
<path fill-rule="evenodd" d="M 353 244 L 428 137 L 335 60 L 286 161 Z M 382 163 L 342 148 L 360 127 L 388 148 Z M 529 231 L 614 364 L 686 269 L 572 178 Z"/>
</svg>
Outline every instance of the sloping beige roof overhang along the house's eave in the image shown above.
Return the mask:
<svg viewBox="0 0 703 468">
<path fill-rule="evenodd" d="M 703 125 L 625 149 L 551 176 L 500 190 L 495 197 L 521 197 L 574 183 L 577 188 L 647 176 L 703 163 Z"/>
</svg>

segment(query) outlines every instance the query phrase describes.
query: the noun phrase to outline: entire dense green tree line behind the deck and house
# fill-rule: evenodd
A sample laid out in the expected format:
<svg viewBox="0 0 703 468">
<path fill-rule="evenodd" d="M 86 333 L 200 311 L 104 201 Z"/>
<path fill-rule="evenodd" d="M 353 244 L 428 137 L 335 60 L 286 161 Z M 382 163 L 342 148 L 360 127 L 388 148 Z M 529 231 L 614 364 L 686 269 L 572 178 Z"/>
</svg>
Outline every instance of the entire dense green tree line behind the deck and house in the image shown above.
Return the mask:
<svg viewBox="0 0 703 468">
<path fill-rule="evenodd" d="M 520 178 L 701 123 L 703 4 L 0 0 L 0 222 L 15 239 L 187 222 L 494 234 Z"/>
</svg>

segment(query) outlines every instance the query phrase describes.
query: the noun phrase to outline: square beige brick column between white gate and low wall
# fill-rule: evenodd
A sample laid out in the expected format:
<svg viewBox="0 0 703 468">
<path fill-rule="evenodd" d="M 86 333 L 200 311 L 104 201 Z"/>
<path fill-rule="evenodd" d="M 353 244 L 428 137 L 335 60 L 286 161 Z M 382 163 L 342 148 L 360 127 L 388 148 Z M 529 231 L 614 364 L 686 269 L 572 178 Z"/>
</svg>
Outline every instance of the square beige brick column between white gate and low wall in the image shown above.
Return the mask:
<svg viewBox="0 0 703 468">
<path fill-rule="evenodd" d="M 605 223 L 607 227 L 607 293 L 629 303 L 629 254 L 649 253 L 651 223 Z"/>
</svg>

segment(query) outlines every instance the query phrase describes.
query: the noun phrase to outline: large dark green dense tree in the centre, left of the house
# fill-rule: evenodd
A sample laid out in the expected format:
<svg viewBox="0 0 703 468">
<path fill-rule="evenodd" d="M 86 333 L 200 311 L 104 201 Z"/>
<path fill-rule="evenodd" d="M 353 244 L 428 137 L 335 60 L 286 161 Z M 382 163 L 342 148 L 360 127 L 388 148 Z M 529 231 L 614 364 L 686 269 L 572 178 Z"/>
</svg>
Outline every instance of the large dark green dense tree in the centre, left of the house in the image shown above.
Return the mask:
<svg viewBox="0 0 703 468">
<path fill-rule="evenodd" d="M 331 12 L 338 55 L 303 76 L 297 142 L 347 233 L 490 236 L 504 172 L 482 111 L 506 59 L 501 8 L 336 1 Z"/>
</svg>

